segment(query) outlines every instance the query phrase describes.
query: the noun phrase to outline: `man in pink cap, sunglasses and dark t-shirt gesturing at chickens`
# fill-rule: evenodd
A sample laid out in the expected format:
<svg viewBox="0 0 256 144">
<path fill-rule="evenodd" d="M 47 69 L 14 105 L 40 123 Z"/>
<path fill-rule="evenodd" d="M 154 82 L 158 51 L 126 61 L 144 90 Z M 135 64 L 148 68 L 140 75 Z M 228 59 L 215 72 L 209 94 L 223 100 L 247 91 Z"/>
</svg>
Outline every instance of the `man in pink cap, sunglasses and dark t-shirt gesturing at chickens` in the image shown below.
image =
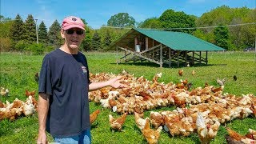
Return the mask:
<svg viewBox="0 0 256 144">
<path fill-rule="evenodd" d="M 104 86 L 124 87 L 118 78 L 90 82 L 84 54 L 78 48 L 85 38 L 80 18 L 64 18 L 63 46 L 46 54 L 38 86 L 38 143 L 46 143 L 46 131 L 58 143 L 90 143 L 88 91 Z"/>
</svg>

